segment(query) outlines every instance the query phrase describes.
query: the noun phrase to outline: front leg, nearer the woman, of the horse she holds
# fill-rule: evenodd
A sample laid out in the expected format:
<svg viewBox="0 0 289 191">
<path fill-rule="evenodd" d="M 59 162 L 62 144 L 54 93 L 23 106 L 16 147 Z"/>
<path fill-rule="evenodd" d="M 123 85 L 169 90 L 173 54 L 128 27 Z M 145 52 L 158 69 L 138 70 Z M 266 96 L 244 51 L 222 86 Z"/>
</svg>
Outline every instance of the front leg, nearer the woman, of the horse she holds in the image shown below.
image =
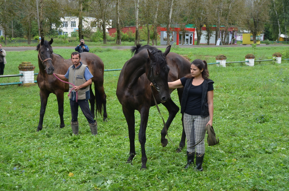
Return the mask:
<svg viewBox="0 0 289 191">
<path fill-rule="evenodd" d="M 145 153 L 145 143 L 146 143 L 146 129 L 147 121 L 149 119 L 149 106 L 143 107 L 140 110 L 140 131 L 138 132 L 138 141 L 140 142 L 140 147 L 142 149 L 142 167 L 147 168 L 147 155 Z"/>
</svg>

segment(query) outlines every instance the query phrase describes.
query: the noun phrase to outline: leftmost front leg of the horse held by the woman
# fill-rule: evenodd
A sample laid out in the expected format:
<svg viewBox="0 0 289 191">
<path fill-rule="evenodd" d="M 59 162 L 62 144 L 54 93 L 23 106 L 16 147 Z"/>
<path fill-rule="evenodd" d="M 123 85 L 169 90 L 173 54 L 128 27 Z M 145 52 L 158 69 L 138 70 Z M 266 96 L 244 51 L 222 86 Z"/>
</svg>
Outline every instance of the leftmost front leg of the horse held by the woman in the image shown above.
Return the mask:
<svg viewBox="0 0 289 191">
<path fill-rule="evenodd" d="M 135 119 L 134 119 L 134 109 L 128 110 L 123 106 L 123 114 L 125 115 L 125 119 L 127 121 L 128 126 L 128 134 L 129 134 L 129 158 L 127 159 L 127 163 L 131 163 L 136 156 L 136 149 L 134 145 L 134 139 L 136 136 L 135 132 Z M 132 164 L 132 163 L 131 163 Z"/>
</svg>

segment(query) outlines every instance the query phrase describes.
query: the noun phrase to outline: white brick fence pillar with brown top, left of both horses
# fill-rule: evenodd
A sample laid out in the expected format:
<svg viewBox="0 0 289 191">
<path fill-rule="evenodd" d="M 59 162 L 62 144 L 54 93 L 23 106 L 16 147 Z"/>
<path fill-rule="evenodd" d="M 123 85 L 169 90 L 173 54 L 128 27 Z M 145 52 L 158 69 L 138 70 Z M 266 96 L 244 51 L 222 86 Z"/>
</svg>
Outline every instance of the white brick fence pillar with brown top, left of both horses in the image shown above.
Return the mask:
<svg viewBox="0 0 289 191">
<path fill-rule="evenodd" d="M 20 82 L 22 82 L 23 86 L 32 86 L 34 83 L 34 68 L 35 66 L 31 64 L 31 62 L 22 62 L 18 66 L 19 74 L 23 74 L 20 76 Z"/>
</svg>

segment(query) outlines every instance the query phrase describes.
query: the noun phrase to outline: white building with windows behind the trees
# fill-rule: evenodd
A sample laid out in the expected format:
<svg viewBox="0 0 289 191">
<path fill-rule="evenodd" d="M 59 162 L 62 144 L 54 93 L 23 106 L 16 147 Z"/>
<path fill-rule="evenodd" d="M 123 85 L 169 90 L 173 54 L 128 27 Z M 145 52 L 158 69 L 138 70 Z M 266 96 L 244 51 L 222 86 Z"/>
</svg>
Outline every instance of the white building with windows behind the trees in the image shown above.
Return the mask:
<svg viewBox="0 0 289 191">
<path fill-rule="evenodd" d="M 78 31 L 78 23 L 79 23 L 78 17 L 66 16 L 64 18 L 61 18 L 61 21 L 62 21 L 62 26 L 59 28 L 59 31 L 58 31 L 59 35 L 71 36 L 72 32 Z M 111 28 L 111 21 L 112 20 L 110 20 L 110 25 L 107 25 L 105 27 L 107 33 L 108 33 L 108 28 Z M 93 17 L 84 17 L 82 20 L 82 25 L 83 25 L 83 28 L 91 27 L 91 30 L 93 32 L 96 32 L 98 21 L 96 18 L 93 18 Z"/>
</svg>

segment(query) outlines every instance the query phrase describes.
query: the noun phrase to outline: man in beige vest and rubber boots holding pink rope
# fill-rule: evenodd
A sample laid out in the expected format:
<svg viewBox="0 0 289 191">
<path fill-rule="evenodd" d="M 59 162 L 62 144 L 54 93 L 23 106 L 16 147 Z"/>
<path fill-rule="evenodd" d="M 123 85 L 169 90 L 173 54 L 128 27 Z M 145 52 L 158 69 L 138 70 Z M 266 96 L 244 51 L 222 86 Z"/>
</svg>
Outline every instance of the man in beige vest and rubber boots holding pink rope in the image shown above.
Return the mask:
<svg viewBox="0 0 289 191">
<path fill-rule="evenodd" d="M 93 119 L 88 100 L 90 98 L 89 85 L 92 83 L 92 74 L 89 72 L 88 66 L 81 63 L 81 57 L 78 52 L 73 52 L 71 54 L 71 61 L 73 65 L 68 68 L 65 75 L 55 74 L 58 78 L 65 80 L 68 79 L 69 83 L 75 86 L 69 85 L 69 95 L 70 108 L 71 108 L 71 129 L 74 135 L 78 135 L 78 106 L 80 106 L 82 113 L 86 117 L 90 131 L 92 135 L 97 134 L 97 121 Z M 76 92 L 78 94 L 78 99 L 76 102 Z"/>
</svg>

